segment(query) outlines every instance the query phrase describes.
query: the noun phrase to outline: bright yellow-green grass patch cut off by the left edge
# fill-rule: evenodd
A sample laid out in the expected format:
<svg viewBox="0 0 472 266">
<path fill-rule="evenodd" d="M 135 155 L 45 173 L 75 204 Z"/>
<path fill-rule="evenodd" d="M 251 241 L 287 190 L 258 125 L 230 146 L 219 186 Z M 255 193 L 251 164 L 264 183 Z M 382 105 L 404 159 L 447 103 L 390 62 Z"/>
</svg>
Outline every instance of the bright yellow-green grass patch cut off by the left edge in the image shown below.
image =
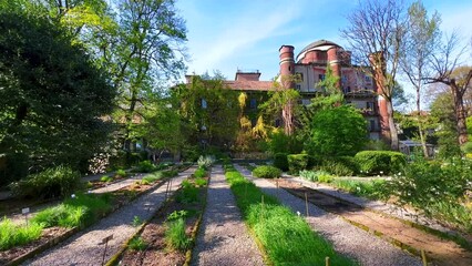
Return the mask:
<svg viewBox="0 0 472 266">
<path fill-rule="evenodd" d="M 41 236 L 42 226 L 35 223 L 14 225 L 10 219 L 0 222 L 0 250 L 25 245 Z"/>
</svg>

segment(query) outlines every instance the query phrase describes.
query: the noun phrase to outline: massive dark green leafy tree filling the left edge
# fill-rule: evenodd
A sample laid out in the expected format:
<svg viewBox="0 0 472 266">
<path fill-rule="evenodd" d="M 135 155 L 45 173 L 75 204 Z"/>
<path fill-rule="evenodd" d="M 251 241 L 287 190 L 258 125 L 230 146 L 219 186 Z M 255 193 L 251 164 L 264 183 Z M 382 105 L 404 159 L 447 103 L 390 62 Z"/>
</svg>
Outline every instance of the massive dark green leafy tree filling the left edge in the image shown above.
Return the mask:
<svg viewBox="0 0 472 266">
<path fill-rule="evenodd" d="M 27 155 L 32 173 L 61 164 L 85 171 L 109 141 L 112 126 L 101 117 L 116 91 L 70 31 L 19 7 L 0 9 L 0 147 Z"/>
</svg>

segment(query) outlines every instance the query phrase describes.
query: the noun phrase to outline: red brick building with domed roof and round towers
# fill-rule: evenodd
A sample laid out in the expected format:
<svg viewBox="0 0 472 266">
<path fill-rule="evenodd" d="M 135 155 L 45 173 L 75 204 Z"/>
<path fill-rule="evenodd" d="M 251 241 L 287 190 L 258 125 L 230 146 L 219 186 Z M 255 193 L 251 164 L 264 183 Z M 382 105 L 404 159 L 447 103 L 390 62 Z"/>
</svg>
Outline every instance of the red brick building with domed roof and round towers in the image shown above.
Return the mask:
<svg viewBox="0 0 472 266">
<path fill-rule="evenodd" d="M 322 92 L 317 88 L 318 82 L 325 79 L 326 68 L 329 64 L 332 73 L 339 76 L 337 86 L 345 94 L 348 103 L 362 111 L 368 121 L 371 140 L 389 139 L 387 109 L 384 100 L 378 95 L 377 86 L 371 74 L 361 68 L 352 65 L 351 53 L 340 45 L 326 41 L 315 41 L 305 47 L 295 58 L 295 48 L 281 45 L 279 49 L 278 82 L 284 88 L 294 88 L 301 95 L 301 103 L 309 104 L 310 99 Z M 298 75 L 297 82 L 284 76 Z M 187 76 L 187 82 L 191 76 Z M 234 81 L 225 81 L 229 89 L 245 91 L 248 94 L 248 105 L 257 109 L 260 92 L 273 89 L 273 81 L 260 81 L 258 71 L 237 71 Z M 287 81 L 286 81 L 287 80 Z"/>
</svg>

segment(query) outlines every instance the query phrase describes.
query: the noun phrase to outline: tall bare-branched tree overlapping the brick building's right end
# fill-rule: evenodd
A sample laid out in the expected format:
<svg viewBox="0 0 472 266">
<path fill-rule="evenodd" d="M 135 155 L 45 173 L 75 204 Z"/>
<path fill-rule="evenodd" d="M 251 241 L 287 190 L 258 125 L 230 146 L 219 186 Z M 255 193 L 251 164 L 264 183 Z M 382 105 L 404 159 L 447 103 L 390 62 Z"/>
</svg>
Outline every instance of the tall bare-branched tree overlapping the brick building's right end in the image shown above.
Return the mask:
<svg viewBox="0 0 472 266">
<path fill-rule="evenodd" d="M 371 65 L 365 71 L 372 75 L 379 96 L 386 101 L 391 147 L 398 150 L 392 95 L 406 30 L 402 1 L 362 1 L 347 19 L 349 25 L 341 35 L 349 42 L 352 59 L 360 65 Z"/>
</svg>

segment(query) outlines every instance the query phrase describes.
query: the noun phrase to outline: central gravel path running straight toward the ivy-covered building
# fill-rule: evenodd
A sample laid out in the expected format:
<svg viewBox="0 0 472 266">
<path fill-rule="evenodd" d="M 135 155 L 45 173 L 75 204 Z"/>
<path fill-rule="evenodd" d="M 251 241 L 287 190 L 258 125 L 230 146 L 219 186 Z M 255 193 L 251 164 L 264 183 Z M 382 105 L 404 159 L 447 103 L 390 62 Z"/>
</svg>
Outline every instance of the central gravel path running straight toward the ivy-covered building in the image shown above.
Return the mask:
<svg viewBox="0 0 472 266">
<path fill-rule="evenodd" d="M 193 254 L 192 265 L 264 265 L 242 222 L 222 166 L 214 167 L 212 172 L 206 211 Z"/>
</svg>

